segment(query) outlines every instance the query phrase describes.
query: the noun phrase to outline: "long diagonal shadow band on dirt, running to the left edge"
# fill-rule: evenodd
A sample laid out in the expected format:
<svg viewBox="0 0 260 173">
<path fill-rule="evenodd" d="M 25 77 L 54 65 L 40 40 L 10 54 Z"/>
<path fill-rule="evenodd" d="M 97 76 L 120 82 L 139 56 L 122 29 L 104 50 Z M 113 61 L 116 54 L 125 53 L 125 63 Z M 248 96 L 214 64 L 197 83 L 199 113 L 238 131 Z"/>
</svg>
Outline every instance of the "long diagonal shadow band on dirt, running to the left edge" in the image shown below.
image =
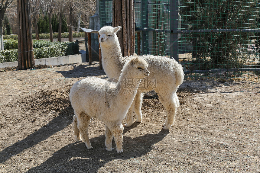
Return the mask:
<svg viewBox="0 0 260 173">
<path fill-rule="evenodd" d="M 31 133 L 25 139 L 14 143 L 13 145 L 3 149 L 0 152 L 0 162 L 5 162 L 13 155 L 16 155 L 24 150 L 33 147 L 37 143 L 44 141 L 54 133 L 65 128 L 72 123 L 72 115 L 60 113 L 57 117 L 51 120 L 49 123 Z"/>
</svg>

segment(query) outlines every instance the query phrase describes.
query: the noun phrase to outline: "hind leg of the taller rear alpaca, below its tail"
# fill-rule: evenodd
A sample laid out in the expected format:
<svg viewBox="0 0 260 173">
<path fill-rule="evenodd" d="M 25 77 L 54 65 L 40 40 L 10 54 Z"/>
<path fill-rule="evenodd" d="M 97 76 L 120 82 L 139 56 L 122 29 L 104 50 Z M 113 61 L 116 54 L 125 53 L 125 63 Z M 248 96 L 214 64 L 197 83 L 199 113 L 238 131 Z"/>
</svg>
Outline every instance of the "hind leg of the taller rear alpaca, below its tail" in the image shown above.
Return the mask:
<svg viewBox="0 0 260 173">
<path fill-rule="evenodd" d="M 176 101 L 176 97 L 177 97 L 176 93 L 170 95 L 167 94 L 164 95 L 159 94 L 159 99 L 167 111 L 167 118 L 165 120 L 165 123 L 163 124 L 164 130 L 169 130 L 171 126 L 174 124 L 175 114 L 178 107 L 178 103 Z M 174 95 L 176 95 L 176 97 Z"/>
</svg>

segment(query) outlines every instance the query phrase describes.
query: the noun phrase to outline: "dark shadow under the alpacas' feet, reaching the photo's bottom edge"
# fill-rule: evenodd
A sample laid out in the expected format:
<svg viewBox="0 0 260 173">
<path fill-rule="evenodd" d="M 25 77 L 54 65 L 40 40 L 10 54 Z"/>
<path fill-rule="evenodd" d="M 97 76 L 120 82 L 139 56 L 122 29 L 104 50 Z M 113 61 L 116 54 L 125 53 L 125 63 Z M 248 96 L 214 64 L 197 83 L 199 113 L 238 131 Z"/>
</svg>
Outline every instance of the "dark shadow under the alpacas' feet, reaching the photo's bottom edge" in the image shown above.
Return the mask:
<svg viewBox="0 0 260 173">
<path fill-rule="evenodd" d="M 145 134 L 135 138 L 123 137 L 123 153 L 105 150 L 105 135 L 91 138 L 93 150 L 86 148 L 85 143 L 71 143 L 55 152 L 41 165 L 27 172 L 97 172 L 99 168 L 114 159 L 130 159 L 141 157 L 153 149 L 153 145 L 163 140 L 169 130 L 161 130 L 157 134 Z M 113 142 L 113 148 L 115 143 Z"/>
</svg>

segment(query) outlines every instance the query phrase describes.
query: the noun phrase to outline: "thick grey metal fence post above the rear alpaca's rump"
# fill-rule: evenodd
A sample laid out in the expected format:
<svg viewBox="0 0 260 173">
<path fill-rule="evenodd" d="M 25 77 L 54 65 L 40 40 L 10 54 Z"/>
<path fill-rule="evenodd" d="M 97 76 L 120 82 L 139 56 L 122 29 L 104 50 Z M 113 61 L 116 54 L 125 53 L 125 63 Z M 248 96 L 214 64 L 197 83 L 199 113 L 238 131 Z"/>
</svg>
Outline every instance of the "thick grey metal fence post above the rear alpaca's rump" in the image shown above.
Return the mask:
<svg viewBox="0 0 260 173">
<path fill-rule="evenodd" d="M 178 0 L 170 0 L 170 55 L 176 61 L 179 60 L 178 56 Z"/>
</svg>

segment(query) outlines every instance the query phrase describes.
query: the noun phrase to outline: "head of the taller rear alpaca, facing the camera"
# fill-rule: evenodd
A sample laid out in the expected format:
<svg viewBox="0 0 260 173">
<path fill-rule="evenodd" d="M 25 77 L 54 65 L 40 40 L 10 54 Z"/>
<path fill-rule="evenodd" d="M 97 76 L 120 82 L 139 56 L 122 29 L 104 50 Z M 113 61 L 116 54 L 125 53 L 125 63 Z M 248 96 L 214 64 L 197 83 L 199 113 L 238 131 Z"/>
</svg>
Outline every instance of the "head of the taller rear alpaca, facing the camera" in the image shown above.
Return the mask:
<svg viewBox="0 0 260 173">
<path fill-rule="evenodd" d="M 118 41 L 116 33 L 121 30 L 121 26 L 112 27 L 112 26 L 104 26 L 99 30 L 99 43 L 100 46 L 109 47 Z"/>
</svg>

